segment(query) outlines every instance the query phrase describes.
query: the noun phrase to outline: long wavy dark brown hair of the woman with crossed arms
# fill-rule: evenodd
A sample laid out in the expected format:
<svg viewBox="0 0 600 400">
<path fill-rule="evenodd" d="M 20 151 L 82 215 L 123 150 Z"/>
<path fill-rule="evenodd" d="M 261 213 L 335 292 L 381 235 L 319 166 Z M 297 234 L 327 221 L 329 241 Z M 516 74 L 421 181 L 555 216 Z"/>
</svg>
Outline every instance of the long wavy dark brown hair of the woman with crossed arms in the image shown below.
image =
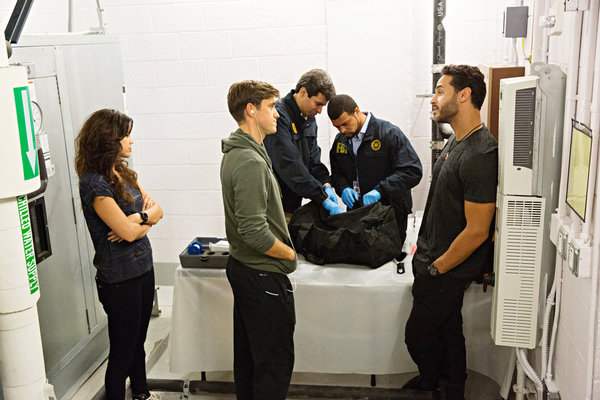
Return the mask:
<svg viewBox="0 0 600 400">
<path fill-rule="evenodd" d="M 119 153 L 120 142 L 132 127 L 133 120 L 127 115 L 105 108 L 88 117 L 75 139 L 75 171 L 79 178 L 89 172 L 100 174 L 113 187 L 116 197 L 127 202 L 133 202 L 133 197 L 124 182 L 139 189 L 137 174 L 119 158 Z M 123 180 L 117 178 L 115 170 Z"/>
</svg>

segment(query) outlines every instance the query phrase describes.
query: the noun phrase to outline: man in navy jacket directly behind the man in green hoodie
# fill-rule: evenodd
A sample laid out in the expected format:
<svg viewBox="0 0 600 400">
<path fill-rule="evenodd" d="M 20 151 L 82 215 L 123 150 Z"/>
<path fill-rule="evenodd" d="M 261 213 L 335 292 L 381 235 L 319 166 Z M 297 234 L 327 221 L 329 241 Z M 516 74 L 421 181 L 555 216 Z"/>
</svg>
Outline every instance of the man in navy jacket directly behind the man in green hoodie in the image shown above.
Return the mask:
<svg viewBox="0 0 600 400">
<path fill-rule="evenodd" d="M 329 183 L 329 171 L 321 163 L 317 144 L 317 122 L 335 87 L 327 72 L 312 69 L 300 77 L 296 88 L 277 104 L 277 132 L 264 144 L 282 192 L 286 219 L 300 207 L 302 199 L 322 204 L 331 215 L 344 212 Z"/>
</svg>

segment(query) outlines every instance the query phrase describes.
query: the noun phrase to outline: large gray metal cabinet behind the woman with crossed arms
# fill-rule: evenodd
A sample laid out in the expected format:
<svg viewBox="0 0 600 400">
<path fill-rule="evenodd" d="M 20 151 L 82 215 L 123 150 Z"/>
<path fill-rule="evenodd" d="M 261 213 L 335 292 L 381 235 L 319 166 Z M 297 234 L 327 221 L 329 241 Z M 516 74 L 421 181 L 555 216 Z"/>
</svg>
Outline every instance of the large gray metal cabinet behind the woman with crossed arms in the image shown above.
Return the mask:
<svg viewBox="0 0 600 400">
<path fill-rule="evenodd" d="M 101 35 L 22 36 L 10 63 L 28 69 L 34 127 L 48 170 L 46 189 L 29 197 L 29 209 L 47 378 L 64 398 L 108 353 L 107 319 L 96 292 L 93 246 L 74 170 L 74 140 L 93 111 L 124 111 L 120 48 L 116 38 Z"/>
</svg>

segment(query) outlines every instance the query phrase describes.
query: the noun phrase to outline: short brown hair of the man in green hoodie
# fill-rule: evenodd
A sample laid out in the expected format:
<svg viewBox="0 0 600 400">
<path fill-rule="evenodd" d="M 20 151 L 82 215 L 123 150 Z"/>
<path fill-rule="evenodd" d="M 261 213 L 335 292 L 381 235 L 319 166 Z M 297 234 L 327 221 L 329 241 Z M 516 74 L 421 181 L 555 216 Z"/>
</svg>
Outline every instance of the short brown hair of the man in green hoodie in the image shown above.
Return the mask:
<svg viewBox="0 0 600 400">
<path fill-rule="evenodd" d="M 248 103 L 260 108 L 263 100 L 272 97 L 279 97 L 279 90 L 270 83 L 252 80 L 236 82 L 231 85 L 227 93 L 227 107 L 233 119 L 239 124 L 244 121 L 244 109 Z"/>
</svg>

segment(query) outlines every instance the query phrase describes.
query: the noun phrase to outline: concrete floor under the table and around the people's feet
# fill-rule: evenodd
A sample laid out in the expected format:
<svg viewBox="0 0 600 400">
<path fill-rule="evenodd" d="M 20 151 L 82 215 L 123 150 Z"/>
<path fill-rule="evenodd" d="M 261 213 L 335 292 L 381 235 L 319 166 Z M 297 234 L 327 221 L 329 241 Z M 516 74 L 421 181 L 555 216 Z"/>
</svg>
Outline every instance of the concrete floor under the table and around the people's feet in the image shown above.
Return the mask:
<svg viewBox="0 0 600 400">
<path fill-rule="evenodd" d="M 231 372 L 209 372 L 206 374 L 208 382 L 222 382 L 215 384 L 211 391 L 204 391 L 206 382 L 201 382 L 202 376 L 199 372 L 191 372 L 185 375 L 175 374 L 169 371 L 168 367 L 168 335 L 171 325 L 171 307 L 173 304 L 173 288 L 171 286 L 161 286 L 158 290 L 159 308 L 161 313 L 158 317 L 153 317 L 150 321 L 148 330 L 148 339 L 146 340 L 146 354 L 148 364 L 148 379 L 151 386 L 157 388 L 161 393 L 163 400 L 188 399 L 188 400 L 208 400 L 208 399 L 227 399 L 235 400 L 233 393 L 218 393 L 214 390 L 230 389 L 233 382 Z M 82 385 L 75 393 L 72 400 L 101 400 L 101 389 L 104 384 L 104 373 L 106 371 L 106 362 L 102 364 L 96 372 Z M 325 399 L 431 399 L 431 395 L 418 392 L 401 392 L 399 389 L 415 373 L 378 375 L 376 377 L 377 386 L 375 390 L 371 387 L 370 375 L 357 374 L 307 374 L 295 373 L 292 377 L 292 389 L 288 399 L 304 400 L 325 400 Z M 182 381 L 191 383 L 191 389 L 187 397 L 183 395 L 181 388 Z M 205 385 L 205 386 L 203 386 Z M 309 386 L 306 386 L 309 385 Z M 169 391 L 160 388 L 169 388 Z M 328 387 L 324 389 L 323 387 Z M 336 396 L 332 394 L 331 387 L 353 387 L 353 391 L 343 390 Z M 173 392 L 171 390 L 177 390 Z M 338 390 L 338 389 L 336 389 Z M 316 393 L 321 394 L 318 397 Z M 498 400 L 501 399 L 498 385 L 490 378 L 479 373 L 469 371 L 467 379 L 466 399 L 467 400 Z M 315 397 L 309 397 L 310 395 Z"/>
</svg>

